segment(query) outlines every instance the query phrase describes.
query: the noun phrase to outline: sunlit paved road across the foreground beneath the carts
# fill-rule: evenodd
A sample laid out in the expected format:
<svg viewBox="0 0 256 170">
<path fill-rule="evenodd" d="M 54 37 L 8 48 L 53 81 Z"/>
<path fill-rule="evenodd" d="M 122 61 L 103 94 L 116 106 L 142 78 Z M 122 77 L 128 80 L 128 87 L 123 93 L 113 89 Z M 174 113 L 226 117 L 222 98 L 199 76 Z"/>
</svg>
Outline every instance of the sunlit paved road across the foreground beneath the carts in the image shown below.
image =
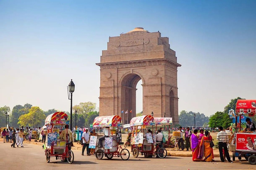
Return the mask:
<svg viewBox="0 0 256 170">
<path fill-rule="evenodd" d="M 11 148 L 10 143 L 0 143 L 0 169 L 35 169 L 35 170 L 56 170 L 56 169 L 118 169 L 118 170 L 226 170 L 226 169 L 256 169 L 256 165 L 250 165 L 246 161 L 234 163 L 218 162 L 193 162 L 191 157 L 166 157 L 165 159 L 144 158 L 139 156 L 133 158 L 130 156 L 128 161 L 123 161 L 121 158 L 113 158 L 108 160 L 103 158 L 97 160 L 95 156 L 82 156 L 81 151 L 74 150 L 75 160 L 73 164 L 61 162 L 51 158 L 50 163 L 46 163 L 44 150 L 41 146 L 24 144 L 24 148 Z M 16 168 L 15 168 L 16 167 Z"/>
</svg>

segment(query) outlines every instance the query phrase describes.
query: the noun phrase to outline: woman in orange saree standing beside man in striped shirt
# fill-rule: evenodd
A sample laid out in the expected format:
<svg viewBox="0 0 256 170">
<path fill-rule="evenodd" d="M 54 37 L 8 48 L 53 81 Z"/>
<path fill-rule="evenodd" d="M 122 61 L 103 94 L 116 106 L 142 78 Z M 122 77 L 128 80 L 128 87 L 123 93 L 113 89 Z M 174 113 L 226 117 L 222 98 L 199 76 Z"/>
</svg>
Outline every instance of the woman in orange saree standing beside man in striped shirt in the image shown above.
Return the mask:
<svg viewBox="0 0 256 170">
<path fill-rule="evenodd" d="M 212 137 L 209 135 L 208 130 L 205 130 L 204 137 L 200 143 L 200 150 L 198 159 L 204 160 L 206 162 L 211 162 L 213 157 L 212 148 L 210 146 L 210 142 L 212 141 Z"/>
</svg>

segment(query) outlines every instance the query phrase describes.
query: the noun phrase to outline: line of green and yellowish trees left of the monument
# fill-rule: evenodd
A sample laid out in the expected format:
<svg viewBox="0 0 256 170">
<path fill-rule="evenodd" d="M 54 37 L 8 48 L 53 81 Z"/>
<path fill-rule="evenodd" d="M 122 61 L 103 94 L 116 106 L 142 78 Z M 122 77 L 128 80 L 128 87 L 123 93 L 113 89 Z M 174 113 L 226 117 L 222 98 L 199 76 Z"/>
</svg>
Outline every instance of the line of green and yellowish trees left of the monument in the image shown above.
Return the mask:
<svg viewBox="0 0 256 170">
<path fill-rule="evenodd" d="M 96 103 L 82 102 L 73 106 L 72 125 L 75 127 L 75 123 L 78 127 L 89 127 L 93 123 L 95 117 L 99 116 L 99 112 L 96 109 Z M 77 111 L 77 115 L 74 111 Z M 56 109 L 50 109 L 43 111 L 38 106 L 32 106 L 31 104 L 16 105 L 10 110 L 10 107 L 0 107 L 0 127 L 6 126 L 5 113 L 9 115 L 9 127 L 42 127 L 45 119 L 48 115 L 55 112 L 65 112 L 70 119 L 70 113 L 68 111 L 61 111 Z M 77 117 L 77 119 L 75 119 Z M 76 121 L 77 120 L 77 121 Z M 76 121 L 76 122 L 75 122 Z"/>
</svg>

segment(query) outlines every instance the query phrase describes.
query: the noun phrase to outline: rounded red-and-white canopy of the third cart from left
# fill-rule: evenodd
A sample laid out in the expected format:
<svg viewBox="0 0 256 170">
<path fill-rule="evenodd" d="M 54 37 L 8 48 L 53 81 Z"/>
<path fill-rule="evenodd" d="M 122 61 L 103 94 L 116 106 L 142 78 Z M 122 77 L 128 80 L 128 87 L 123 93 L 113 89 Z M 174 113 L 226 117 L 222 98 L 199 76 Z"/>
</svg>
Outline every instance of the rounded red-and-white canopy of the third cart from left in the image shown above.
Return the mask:
<svg viewBox="0 0 256 170">
<path fill-rule="evenodd" d="M 154 118 L 151 115 L 144 115 L 139 117 L 134 117 L 130 121 L 130 126 L 140 126 L 140 125 L 155 125 Z"/>
</svg>

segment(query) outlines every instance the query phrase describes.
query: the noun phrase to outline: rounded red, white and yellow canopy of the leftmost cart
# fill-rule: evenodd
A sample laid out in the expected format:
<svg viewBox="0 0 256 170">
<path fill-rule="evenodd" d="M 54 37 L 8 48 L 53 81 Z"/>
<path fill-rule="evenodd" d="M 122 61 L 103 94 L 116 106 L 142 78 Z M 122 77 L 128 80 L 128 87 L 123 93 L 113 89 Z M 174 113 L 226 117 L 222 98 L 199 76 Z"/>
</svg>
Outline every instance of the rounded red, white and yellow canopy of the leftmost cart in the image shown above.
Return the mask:
<svg viewBox="0 0 256 170">
<path fill-rule="evenodd" d="M 68 115 L 64 112 L 56 112 L 53 113 L 45 119 L 44 125 L 49 124 L 55 124 L 55 125 L 61 125 L 61 124 L 69 124 Z"/>
</svg>

